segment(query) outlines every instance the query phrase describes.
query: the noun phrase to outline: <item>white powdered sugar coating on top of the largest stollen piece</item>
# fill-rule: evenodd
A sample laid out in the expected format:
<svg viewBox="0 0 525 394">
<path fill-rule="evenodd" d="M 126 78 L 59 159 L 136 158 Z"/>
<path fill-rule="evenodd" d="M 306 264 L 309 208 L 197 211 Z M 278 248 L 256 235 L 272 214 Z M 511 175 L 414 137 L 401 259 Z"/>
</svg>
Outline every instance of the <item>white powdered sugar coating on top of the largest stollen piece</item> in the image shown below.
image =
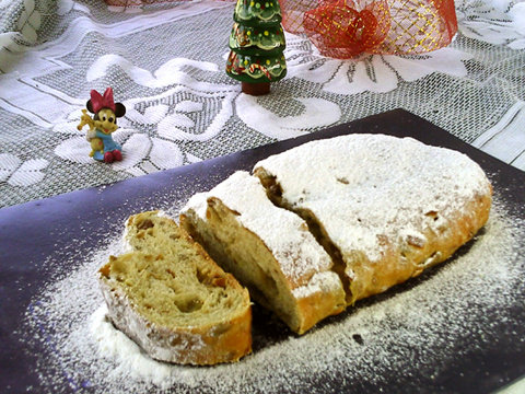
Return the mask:
<svg viewBox="0 0 525 394">
<path fill-rule="evenodd" d="M 312 163 L 315 162 L 315 165 Z M 313 141 L 258 162 L 293 209 L 312 211 L 345 252 L 378 260 L 385 244 L 424 243 L 465 201 L 490 194 L 481 167 L 459 152 L 411 138 L 349 135 Z"/>
</svg>

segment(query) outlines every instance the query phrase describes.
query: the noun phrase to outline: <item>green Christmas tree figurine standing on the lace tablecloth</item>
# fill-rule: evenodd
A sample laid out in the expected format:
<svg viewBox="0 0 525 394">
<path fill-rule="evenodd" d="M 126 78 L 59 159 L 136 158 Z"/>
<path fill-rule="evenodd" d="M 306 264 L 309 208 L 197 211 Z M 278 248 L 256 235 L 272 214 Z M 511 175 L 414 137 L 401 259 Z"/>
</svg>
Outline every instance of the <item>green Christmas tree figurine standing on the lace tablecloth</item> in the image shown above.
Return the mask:
<svg viewBox="0 0 525 394">
<path fill-rule="evenodd" d="M 287 74 L 285 47 L 278 0 L 237 0 L 230 35 L 226 73 L 243 92 L 259 95 Z"/>
</svg>

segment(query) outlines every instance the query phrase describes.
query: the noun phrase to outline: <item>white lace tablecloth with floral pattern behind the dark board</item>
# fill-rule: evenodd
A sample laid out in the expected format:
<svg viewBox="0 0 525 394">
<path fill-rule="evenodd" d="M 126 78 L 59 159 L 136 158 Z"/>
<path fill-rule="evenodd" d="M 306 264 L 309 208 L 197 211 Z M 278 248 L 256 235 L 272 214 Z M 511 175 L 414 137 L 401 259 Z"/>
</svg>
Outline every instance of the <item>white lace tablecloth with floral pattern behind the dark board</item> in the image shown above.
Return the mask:
<svg viewBox="0 0 525 394">
<path fill-rule="evenodd" d="M 117 9 L 0 0 L 0 207 L 232 153 L 402 107 L 525 170 L 525 2 L 456 2 L 459 33 L 424 56 L 320 56 L 287 35 L 267 96 L 224 72 L 232 2 Z M 81 109 L 113 86 L 124 161 L 89 157 Z"/>
</svg>

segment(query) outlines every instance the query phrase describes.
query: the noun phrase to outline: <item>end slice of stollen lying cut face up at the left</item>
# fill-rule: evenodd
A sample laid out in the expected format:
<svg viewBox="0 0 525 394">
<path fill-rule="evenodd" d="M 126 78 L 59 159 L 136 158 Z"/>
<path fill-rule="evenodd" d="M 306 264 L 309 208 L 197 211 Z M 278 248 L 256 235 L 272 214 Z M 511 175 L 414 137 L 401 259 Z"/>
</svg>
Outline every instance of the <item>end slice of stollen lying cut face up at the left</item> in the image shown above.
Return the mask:
<svg viewBox="0 0 525 394">
<path fill-rule="evenodd" d="M 129 218 L 130 253 L 100 269 L 115 326 L 152 358 L 183 364 L 237 361 L 252 350 L 246 289 L 177 223 L 158 212 Z"/>
</svg>

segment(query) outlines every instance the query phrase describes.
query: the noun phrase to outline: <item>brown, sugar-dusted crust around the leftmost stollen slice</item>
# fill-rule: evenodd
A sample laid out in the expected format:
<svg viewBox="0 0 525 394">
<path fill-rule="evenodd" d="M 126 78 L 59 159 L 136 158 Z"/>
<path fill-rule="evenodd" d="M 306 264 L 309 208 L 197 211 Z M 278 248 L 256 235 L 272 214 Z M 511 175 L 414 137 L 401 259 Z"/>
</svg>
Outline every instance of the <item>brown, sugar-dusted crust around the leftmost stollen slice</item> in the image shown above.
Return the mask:
<svg viewBox="0 0 525 394">
<path fill-rule="evenodd" d="M 135 221 L 150 219 L 156 213 L 155 211 L 138 213 L 128 220 L 128 225 L 133 225 Z M 156 360 L 196 366 L 237 361 L 252 351 L 252 308 L 248 292 L 232 275 L 225 274 L 189 234 L 182 230 L 180 235 L 206 260 L 211 278 L 220 277 L 223 281 L 221 286 L 242 294 L 244 306 L 209 324 L 194 326 L 187 323 L 177 326 L 176 322 L 171 326 L 156 324 L 140 313 L 124 288 L 110 277 L 109 262 L 100 269 L 98 275 L 100 287 L 108 308 L 108 317 L 117 328 Z M 110 260 L 119 258 L 126 262 L 127 258 L 137 256 L 145 259 L 149 255 L 133 251 L 119 257 L 112 257 Z"/>
</svg>

